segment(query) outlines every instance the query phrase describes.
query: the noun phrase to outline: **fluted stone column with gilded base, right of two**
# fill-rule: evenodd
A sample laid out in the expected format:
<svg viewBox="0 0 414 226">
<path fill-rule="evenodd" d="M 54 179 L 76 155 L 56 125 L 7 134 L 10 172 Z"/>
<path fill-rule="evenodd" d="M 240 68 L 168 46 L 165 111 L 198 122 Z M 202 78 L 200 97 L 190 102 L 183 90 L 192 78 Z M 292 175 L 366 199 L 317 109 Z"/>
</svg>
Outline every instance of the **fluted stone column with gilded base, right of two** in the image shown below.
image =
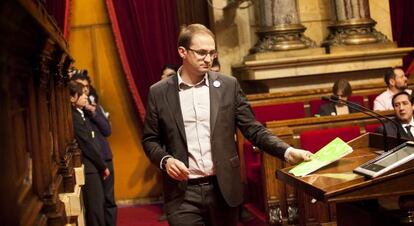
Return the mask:
<svg viewBox="0 0 414 226">
<path fill-rule="evenodd" d="M 324 41 L 327 46 L 360 45 L 390 42 L 375 30 L 369 12 L 368 0 L 331 0 L 330 34 Z"/>
</svg>

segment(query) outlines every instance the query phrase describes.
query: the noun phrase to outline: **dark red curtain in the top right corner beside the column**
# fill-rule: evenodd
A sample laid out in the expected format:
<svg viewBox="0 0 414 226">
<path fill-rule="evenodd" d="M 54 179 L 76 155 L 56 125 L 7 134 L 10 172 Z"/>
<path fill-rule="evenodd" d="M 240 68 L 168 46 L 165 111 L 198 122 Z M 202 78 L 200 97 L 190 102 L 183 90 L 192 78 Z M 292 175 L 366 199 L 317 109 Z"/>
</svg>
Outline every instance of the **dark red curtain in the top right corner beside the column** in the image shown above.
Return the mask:
<svg viewBox="0 0 414 226">
<path fill-rule="evenodd" d="M 389 0 L 392 36 L 399 47 L 414 46 L 414 1 Z M 403 68 L 406 70 L 414 59 L 414 52 L 404 57 Z"/>
</svg>

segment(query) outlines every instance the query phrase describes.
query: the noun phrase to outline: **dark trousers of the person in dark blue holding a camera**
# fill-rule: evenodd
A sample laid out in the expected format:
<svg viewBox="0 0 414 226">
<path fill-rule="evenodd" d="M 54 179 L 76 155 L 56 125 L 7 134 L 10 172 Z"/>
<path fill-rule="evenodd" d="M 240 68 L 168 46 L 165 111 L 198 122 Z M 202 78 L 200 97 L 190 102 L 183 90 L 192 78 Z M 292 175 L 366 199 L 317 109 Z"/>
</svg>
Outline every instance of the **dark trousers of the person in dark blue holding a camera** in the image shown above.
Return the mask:
<svg viewBox="0 0 414 226">
<path fill-rule="evenodd" d="M 114 174 L 114 165 L 112 160 L 106 160 L 106 165 L 108 166 L 109 172 L 111 175 L 103 181 L 104 185 L 104 194 L 105 194 L 105 223 L 106 226 L 116 226 L 117 219 L 117 206 L 115 203 L 115 174 Z"/>
</svg>

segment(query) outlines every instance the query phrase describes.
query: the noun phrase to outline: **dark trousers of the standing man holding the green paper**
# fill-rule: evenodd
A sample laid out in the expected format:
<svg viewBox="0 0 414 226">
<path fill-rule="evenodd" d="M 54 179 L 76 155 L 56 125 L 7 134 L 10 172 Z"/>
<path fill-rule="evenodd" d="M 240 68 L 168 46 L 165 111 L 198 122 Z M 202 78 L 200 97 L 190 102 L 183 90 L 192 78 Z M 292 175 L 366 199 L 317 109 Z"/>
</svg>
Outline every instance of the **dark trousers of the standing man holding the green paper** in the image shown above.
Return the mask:
<svg viewBox="0 0 414 226">
<path fill-rule="evenodd" d="M 167 216 L 170 226 L 236 226 L 238 207 L 230 207 L 217 184 L 188 185 L 184 201 Z"/>
</svg>

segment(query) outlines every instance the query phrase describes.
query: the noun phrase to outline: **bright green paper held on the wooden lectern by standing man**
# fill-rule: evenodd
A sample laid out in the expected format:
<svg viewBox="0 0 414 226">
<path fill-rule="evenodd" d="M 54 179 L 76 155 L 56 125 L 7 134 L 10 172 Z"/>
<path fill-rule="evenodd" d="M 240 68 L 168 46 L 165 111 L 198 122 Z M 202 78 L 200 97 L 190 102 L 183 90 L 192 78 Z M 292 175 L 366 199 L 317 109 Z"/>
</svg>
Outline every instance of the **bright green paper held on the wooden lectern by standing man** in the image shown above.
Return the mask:
<svg viewBox="0 0 414 226">
<path fill-rule="evenodd" d="M 335 162 L 336 160 L 344 157 L 352 151 L 353 150 L 351 146 L 341 140 L 341 138 L 337 137 L 329 144 L 325 145 L 325 147 L 321 148 L 318 152 L 313 154 L 311 161 L 300 163 L 299 165 L 289 170 L 289 173 L 300 177 L 306 176 L 317 169 Z"/>
</svg>

